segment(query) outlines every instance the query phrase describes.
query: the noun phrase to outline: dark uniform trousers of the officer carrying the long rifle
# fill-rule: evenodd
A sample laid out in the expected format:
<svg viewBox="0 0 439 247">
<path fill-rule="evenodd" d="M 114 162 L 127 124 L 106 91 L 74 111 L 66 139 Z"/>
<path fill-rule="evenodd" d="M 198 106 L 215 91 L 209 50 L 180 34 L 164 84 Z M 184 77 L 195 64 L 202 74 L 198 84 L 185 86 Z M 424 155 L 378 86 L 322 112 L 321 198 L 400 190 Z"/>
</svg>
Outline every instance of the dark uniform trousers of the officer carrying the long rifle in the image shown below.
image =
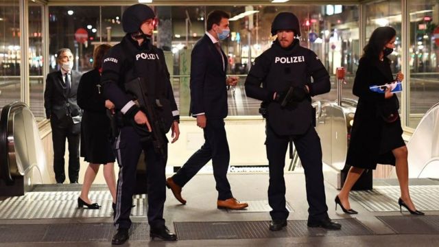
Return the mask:
<svg viewBox="0 0 439 247">
<path fill-rule="evenodd" d="M 148 212 L 147 219 L 151 228 L 165 226 L 163 205 L 166 200 L 166 158 L 154 152 L 152 142 L 141 144 L 139 135 L 131 126 L 121 128 L 115 141 L 115 152 L 119 163 L 117 180 L 115 226 L 130 228 L 132 195 L 136 186 L 137 163 L 141 152 L 145 152 L 147 171 Z"/>
</svg>

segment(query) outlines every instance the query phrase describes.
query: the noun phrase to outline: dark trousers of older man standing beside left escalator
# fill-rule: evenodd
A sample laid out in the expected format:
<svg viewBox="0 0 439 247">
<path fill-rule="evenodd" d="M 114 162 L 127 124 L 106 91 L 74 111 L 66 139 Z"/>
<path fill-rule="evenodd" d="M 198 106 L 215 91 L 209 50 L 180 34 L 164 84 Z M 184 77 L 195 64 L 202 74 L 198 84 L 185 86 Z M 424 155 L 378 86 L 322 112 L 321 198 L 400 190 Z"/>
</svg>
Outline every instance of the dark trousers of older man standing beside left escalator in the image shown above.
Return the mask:
<svg viewBox="0 0 439 247">
<path fill-rule="evenodd" d="M 54 172 L 56 183 L 64 183 L 64 154 L 66 138 L 69 143 L 69 180 L 78 183 L 80 172 L 80 124 L 73 124 L 69 116 L 58 119 L 56 115 L 50 118 L 52 142 L 54 143 Z"/>
</svg>

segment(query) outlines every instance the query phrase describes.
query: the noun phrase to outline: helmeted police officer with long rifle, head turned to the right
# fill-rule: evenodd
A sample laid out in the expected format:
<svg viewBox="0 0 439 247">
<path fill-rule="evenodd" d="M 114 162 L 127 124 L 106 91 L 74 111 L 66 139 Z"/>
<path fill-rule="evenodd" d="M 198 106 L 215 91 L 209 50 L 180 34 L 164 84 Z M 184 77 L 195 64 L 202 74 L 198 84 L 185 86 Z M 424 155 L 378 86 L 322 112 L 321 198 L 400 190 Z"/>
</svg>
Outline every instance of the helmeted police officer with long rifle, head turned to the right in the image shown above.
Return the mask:
<svg viewBox="0 0 439 247">
<path fill-rule="evenodd" d="M 123 244 L 129 237 L 132 195 L 136 183 L 137 162 L 142 150 L 145 152 L 147 165 L 147 219 L 150 224 L 150 237 L 171 241 L 177 239 L 174 233 L 169 232 L 163 219 L 167 156 L 154 150 L 151 139 L 141 141 L 141 138 L 147 137 L 151 131 L 157 130 L 152 128 L 151 119 L 147 119 L 148 114 L 145 115 L 143 110 L 140 110 L 134 102 L 134 97 L 126 90 L 128 82 L 143 78 L 142 83 L 145 84 L 150 101 L 160 99 L 163 105 L 166 105 L 165 102 L 168 103 L 169 109 L 163 108 L 162 111 L 169 115 L 169 128 L 172 129 L 174 143 L 180 134 L 179 113 L 169 81 L 165 56 L 150 40 L 154 30 L 154 16 L 153 10 L 147 5 L 135 4 L 128 7 L 122 16 L 123 31 L 127 34 L 121 43 L 108 51 L 102 64 L 104 95 L 114 102 L 117 114 L 121 116 L 120 132 L 115 140 L 115 152 L 120 169 L 115 209 L 117 233 L 112 238 L 112 244 Z"/>
</svg>

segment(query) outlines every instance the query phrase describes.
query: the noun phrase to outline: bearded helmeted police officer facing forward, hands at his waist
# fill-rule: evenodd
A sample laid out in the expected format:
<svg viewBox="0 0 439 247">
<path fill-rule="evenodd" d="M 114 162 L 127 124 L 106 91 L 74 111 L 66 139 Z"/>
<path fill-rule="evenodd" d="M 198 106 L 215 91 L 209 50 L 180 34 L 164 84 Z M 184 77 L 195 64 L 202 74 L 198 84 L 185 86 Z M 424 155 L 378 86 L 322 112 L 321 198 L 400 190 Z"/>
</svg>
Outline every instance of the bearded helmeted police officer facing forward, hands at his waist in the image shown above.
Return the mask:
<svg viewBox="0 0 439 247">
<path fill-rule="evenodd" d="M 272 23 L 272 35 L 277 35 L 276 40 L 254 60 L 245 84 L 249 97 L 263 101 L 261 113 L 267 119 L 265 145 L 270 169 L 270 230 L 278 231 L 287 226 L 283 169 L 290 142 L 294 142 L 305 169 L 308 226 L 340 229 L 341 225 L 331 222 L 327 213 L 322 148 L 313 128 L 316 116 L 311 106 L 311 96 L 331 89 L 328 71 L 313 51 L 300 47 L 296 38 L 300 36 L 300 26 L 294 14 L 279 13 Z"/>
</svg>

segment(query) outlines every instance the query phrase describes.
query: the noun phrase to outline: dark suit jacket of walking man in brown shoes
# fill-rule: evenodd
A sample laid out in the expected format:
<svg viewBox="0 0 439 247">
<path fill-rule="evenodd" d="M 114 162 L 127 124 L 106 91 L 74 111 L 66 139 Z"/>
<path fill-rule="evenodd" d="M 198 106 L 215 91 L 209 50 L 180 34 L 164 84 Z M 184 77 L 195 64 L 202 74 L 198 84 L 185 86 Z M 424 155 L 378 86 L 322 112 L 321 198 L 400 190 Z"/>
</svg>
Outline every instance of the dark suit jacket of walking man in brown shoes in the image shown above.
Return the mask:
<svg viewBox="0 0 439 247">
<path fill-rule="evenodd" d="M 227 57 L 222 58 L 211 38 L 204 34 L 191 53 L 191 108 L 189 115 L 204 113 L 208 119 L 227 117 Z"/>
</svg>

